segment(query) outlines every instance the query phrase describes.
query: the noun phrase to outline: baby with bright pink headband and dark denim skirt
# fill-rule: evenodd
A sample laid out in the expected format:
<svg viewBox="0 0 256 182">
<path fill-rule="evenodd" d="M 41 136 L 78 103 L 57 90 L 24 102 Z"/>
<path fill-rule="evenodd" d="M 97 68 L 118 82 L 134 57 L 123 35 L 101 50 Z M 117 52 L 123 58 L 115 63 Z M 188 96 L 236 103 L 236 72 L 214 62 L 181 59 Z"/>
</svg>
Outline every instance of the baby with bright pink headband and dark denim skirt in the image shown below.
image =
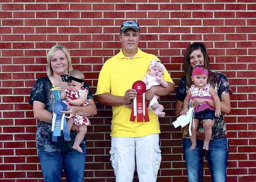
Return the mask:
<svg viewBox="0 0 256 182">
<path fill-rule="evenodd" d="M 203 149 L 208 150 L 209 142 L 211 140 L 212 135 L 212 126 L 214 124 L 214 119 L 215 117 L 219 117 L 221 115 L 221 102 L 214 88 L 212 88 L 209 83 L 207 84 L 208 70 L 206 68 L 204 68 L 203 66 L 196 66 L 195 68 L 193 68 L 191 78 L 194 84 L 190 88 L 188 88 L 188 92 L 183 103 L 183 109 L 181 111 L 181 114 L 187 114 L 189 100 L 197 98 L 205 100 L 214 100 L 215 108 L 207 102 L 204 102 L 202 104 L 199 104 L 199 106 L 197 106 L 194 109 L 195 128 L 193 128 L 193 124 L 191 125 L 192 135 L 190 136 L 190 140 L 192 144 L 190 150 L 193 150 L 196 147 L 196 130 L 199 124 L 199 120 L 202 122 L 202 125 L 205 130 Z"/>
</svg>

